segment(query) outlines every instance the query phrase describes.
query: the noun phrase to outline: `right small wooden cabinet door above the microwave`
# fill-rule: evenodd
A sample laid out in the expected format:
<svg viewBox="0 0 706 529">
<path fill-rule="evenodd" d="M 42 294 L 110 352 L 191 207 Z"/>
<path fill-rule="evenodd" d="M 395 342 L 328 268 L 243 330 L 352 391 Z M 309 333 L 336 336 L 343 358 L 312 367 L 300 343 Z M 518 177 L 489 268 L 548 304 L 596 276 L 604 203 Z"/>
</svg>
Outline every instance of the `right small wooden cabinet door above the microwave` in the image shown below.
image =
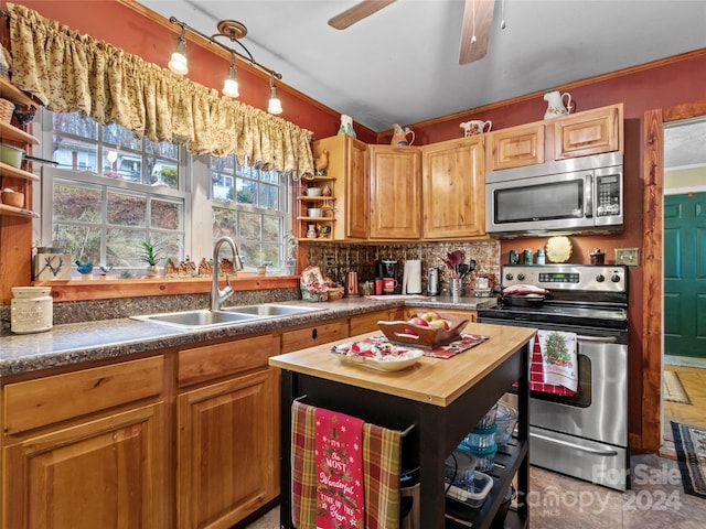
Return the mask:
<svg viewBox="0 0 706 529">
<path fill-rule="evenodd" d="M 548 121 L 554 134 L 554 159 L 623 150 L 622 104 L 586 110 Z"/>
</svg>

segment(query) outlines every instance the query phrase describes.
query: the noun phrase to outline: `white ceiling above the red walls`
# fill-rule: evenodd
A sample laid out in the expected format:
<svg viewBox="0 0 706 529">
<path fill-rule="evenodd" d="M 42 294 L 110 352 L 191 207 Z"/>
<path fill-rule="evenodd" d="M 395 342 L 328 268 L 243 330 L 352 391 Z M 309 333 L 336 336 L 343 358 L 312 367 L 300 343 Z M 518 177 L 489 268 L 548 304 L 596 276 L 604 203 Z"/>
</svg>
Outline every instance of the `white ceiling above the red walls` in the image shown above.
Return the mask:
<svg viewBox="0 0 706 529">
<path fill-rule="evenodd" d="M 706 47 L 706 0 L 504 0 L 504 30 L 496 0 L 488 55 L 462 66 L 462 0 L 398 0 L 342 31 L 327 22 L 355 0 L 138 1 L 208 35 L 243 22 L 257 62 L 376 132 Z"/>
</svg>

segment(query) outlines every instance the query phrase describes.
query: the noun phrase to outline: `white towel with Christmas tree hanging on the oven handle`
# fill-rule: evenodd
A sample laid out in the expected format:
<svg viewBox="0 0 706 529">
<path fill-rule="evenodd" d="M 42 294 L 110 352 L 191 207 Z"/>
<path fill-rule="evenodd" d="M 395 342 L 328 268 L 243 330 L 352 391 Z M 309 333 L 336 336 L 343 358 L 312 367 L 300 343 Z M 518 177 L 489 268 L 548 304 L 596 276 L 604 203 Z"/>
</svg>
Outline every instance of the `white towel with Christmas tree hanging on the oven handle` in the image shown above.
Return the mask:
<svg viewBox="0 0 706 529">
<path fill-rule="evenodd" d="M 538 331 L 535 341 L 542 350 L 544 384 L 563 386 L 571 393 L 578 390 L 576 333 Z"/>
</svg>

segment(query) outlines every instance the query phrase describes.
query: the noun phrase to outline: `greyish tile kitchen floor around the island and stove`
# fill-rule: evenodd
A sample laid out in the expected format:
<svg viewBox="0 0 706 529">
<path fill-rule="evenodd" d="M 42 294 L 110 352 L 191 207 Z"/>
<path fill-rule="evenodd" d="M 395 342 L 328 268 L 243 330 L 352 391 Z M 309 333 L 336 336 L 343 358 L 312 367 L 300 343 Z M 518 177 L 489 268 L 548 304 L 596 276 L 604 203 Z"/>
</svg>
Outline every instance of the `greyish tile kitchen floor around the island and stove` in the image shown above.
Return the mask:
<svg viewBox="0 0 706 529">
<path fill-rule="evenodd" d="M 635 455 L 631 466 L 633 483 L 627 493 L 531 467 L 530 528 L 706 527 L 706 500 L 684 494 L 675 461 L 652 454 Z M 272 509 L 247 529 L 279 529 L 279 509 Z"/>
</svg>

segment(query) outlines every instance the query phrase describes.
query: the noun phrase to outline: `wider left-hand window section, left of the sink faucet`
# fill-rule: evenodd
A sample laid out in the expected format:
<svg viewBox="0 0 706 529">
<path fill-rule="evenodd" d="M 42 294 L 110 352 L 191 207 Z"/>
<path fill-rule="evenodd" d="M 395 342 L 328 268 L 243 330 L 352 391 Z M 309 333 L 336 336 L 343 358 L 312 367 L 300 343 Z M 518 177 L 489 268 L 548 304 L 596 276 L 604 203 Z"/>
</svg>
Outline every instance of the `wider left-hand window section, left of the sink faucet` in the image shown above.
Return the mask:
<svg viewBox="0 0 706 529">
<path fill-rule="evenodd" d="M 74 114 L 42 112 L 44 170 L 42 239 L 82 262 L 143 268 L 141 242 L 183 255 L 185 203 L 178 145 L 137 138 Z M 47 138 L 49 137 L 49 138 Z M 45 148 L 46 149 L 46 148 Z M 49 176 L 49 177 L 47 177 Z"/>
</svg>

